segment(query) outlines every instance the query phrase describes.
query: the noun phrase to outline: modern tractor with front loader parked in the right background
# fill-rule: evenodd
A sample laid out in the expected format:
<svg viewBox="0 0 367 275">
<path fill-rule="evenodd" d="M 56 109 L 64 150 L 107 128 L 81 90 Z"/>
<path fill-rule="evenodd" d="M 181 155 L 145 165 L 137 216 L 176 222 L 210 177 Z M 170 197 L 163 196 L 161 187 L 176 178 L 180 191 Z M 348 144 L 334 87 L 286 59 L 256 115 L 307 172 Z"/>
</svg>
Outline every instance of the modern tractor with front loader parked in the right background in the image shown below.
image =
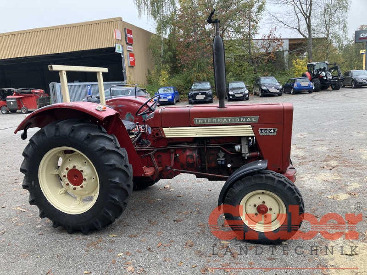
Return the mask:
<svg viewBox="0 0 367 275">
<path fill-rule="evenodd" d="M 326 90 L 329 87 L 333 90 L 339 90 L 344 80 L 339 66 L 334 63 L 333 67 L 329 67 L 327 61 L 307 63 L 307 72 L 302 76 L 312 81 L 315 92 Z"/>
</svg>

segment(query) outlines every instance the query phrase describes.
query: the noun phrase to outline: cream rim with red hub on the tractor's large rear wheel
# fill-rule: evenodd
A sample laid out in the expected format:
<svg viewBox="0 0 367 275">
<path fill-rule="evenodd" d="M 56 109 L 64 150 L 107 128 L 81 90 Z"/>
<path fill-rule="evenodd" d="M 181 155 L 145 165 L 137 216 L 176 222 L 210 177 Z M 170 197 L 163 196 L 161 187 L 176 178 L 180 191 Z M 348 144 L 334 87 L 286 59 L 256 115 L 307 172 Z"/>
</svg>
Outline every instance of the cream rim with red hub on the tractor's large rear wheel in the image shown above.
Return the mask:
<svg viewBox="0 0 367 275">
<path fill-rule="evenodd" d="M 97 170 L 75 148 L 62 146 L 48 151 L 41 159 L 38 179 L 48 202 L 64 213 L 84 213 L 97 201 Z"/>
</svg>

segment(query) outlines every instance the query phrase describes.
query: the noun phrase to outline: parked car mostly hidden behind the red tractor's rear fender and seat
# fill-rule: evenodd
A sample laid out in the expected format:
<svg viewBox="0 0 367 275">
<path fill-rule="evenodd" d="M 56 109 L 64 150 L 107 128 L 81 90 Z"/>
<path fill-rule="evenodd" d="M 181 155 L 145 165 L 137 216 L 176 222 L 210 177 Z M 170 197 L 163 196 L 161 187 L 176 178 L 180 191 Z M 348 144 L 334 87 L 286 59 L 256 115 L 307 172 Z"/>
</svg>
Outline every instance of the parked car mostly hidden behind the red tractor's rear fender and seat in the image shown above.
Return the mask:
<svg viewBox="0 0 367 275">
<path fill-rule="evenodd" d="M 106 100 L 111 98 L 118 98 L 120 96 L 141 96 L 143 98 L 150 98 L 150 95 L 145 89 L 139 87 L 124 87 L 124 86 L 112 86 L 109 89 L 105 90 L 105 97 Z M 88 96 L 84 98 L 82 101 L 94 102 L 99 103 L 99 95 L 97 96 Z"/>
</svg>

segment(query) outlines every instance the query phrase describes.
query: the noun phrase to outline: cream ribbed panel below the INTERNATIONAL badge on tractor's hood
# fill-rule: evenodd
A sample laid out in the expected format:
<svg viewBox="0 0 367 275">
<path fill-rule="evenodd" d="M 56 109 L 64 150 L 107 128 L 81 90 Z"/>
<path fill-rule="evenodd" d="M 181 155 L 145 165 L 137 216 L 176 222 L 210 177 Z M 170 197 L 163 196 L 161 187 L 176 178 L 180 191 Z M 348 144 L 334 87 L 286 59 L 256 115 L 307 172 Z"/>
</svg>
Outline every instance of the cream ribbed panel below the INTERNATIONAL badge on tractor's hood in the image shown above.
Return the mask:
<svg viewBox="0 0 367 275">
<path fill-rule="evenodd" d="M 166 137 L 254 136 L 251 125 L 163 128 Z"/>
</svg>

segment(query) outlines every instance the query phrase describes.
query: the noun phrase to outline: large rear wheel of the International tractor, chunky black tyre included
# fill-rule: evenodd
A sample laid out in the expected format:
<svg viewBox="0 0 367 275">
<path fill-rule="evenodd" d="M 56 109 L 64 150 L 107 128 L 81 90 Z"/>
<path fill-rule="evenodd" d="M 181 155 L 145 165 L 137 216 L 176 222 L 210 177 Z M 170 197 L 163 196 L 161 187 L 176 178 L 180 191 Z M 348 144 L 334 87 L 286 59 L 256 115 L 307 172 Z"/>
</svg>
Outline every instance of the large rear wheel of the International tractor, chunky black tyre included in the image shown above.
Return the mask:
<svg viewBox="0 0 367 275">
<path fill-rule="evenodd" d="M 21 172 L 40 217 L 69 233 L 101 230 L 124 211 L 132 192 L 127 152 L 101 126 L 69 119 L 32 136 Z"/>
</svg>

